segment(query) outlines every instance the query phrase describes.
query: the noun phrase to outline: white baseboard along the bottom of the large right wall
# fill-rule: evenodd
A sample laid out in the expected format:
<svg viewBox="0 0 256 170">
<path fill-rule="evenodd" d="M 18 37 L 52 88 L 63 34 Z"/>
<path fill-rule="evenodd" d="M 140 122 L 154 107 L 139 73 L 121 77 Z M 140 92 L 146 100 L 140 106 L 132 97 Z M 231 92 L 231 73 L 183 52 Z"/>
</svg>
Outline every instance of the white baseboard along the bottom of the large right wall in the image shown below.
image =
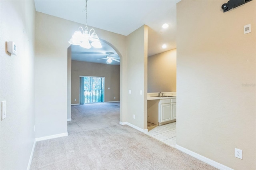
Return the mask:
<svg viewBox="0 0 256 170">
<path fill-rule="evenodd" d="M 175 145 L 175 148 L 180 150 L 180 151 L 182 151 L 182 152 L 184 152 L 184 153 L 186 153 L 186 154 L 189 154 L 190 156 L 193 156 L 196 159 L 199 159 L 199 160 L 205 162 L 206 164 L 214 166 L 215 168 L 218 168 L 220 170 L 233 170 L 232 168 L 229 168 L 228 166 L 222 165 L 222 164 L 220 164 L 218 162 L 215 162 L 214 160 L 211 160 L 211 159 L 206 158 L 206 157 L 204 157 L 204 156 L 202 156 L 200 154 L 197 154 L 197 153 L 195 153 L 195 152 L 193 152 L 191 150 L 183 148 L 182 146 L 179 146 L 178 144 Z"/>
</svg>

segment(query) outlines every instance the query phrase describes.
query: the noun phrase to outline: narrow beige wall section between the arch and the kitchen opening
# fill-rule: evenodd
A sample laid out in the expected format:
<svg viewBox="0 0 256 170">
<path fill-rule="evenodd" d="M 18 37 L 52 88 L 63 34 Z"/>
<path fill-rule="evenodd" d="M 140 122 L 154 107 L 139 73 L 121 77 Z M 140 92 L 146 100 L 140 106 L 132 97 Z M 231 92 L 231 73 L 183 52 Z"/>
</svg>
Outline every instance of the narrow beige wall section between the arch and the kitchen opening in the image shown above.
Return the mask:
<svg viewBox="0 0 256 170">
<path fill-rule="evenodd" d="M 142 129 L 147 129 L 144 126 L 147 125 L 147 42 L 148 26 L 142 26 L 127 36 L 127 91 L 124 93 L 131 90 L 132 94 L 127 95 L 125 118 L 128 123 Z"/>
</svg>

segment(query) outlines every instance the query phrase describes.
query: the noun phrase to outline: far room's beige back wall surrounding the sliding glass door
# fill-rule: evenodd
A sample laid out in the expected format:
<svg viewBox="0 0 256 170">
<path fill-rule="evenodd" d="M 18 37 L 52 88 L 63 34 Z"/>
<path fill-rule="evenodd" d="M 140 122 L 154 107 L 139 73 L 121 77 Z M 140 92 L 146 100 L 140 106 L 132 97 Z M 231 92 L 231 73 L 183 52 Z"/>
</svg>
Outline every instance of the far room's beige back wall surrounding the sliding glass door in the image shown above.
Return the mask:
<svg viewBox="0 0 256 170">
<path fill-rule="evenodd" d="M 71 103 L 79 104 L 80 77 L 105 77 L 104 101 L 119 101 L 120 96 L 120 65 L 88 63 L 72 60 L 71 72 Z M 110 89 L 108 90 L 108 87 Z M 114 99 L 116 97 L 116 99 Z M 75 101 L 76 99 L 76 101 Z"/>
</svg>

